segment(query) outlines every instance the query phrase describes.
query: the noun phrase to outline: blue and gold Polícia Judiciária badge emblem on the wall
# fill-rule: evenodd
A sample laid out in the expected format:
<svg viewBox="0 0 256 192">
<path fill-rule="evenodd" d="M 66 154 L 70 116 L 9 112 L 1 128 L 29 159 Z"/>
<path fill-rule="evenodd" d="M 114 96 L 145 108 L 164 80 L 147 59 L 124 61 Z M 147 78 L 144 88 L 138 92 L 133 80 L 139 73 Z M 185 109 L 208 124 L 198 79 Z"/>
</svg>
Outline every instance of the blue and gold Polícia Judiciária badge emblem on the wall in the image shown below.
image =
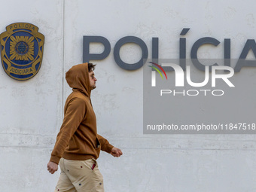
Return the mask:
<svg viewBox="0 0 256 192">
<path fill-rule="evenodd" d="M 34 77 L 43 59 L 44 35 L 30 23 L 13 23 L 0 35 L 1 60 L 5 72 L 14 79 Z"/>
</svg>

